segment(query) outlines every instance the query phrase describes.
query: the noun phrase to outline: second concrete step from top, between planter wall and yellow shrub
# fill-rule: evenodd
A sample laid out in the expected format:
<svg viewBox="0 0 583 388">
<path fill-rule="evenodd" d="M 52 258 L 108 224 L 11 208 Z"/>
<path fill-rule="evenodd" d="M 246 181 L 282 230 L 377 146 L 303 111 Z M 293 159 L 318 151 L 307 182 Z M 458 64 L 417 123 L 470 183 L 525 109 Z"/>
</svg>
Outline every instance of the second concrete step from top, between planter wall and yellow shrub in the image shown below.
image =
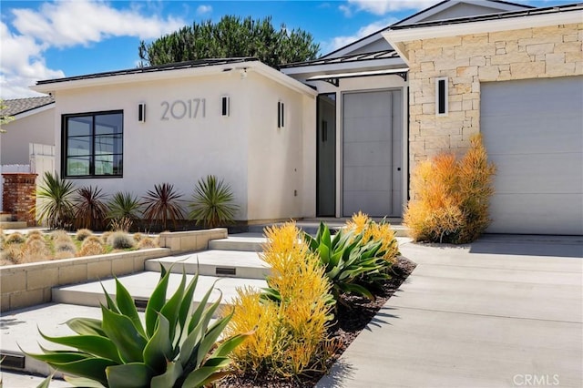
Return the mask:
<svg viewBox="0 0 583 388">
<path fill-rule="evenodd" d="M 172 268 L 173 273 L 244 279 L 265 279 L 271 271 L 257 252 L 241 250 L 205 250 L 198 253 L 169 256 L 146 261 L 146 271 Z"/>
</svg>

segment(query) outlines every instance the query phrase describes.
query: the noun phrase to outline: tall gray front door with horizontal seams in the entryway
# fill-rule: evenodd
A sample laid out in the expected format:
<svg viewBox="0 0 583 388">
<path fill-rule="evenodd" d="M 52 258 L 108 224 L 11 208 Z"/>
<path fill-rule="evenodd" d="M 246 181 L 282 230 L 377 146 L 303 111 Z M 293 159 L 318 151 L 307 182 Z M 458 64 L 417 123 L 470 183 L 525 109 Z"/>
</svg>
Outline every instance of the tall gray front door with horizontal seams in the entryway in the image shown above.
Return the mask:
<svg viewBox="0 0 583 388">
<path fill-rule="evenodd" d="M 401 91 L 343 95 L 343 216 L 402 211 Z"/>
</svg>

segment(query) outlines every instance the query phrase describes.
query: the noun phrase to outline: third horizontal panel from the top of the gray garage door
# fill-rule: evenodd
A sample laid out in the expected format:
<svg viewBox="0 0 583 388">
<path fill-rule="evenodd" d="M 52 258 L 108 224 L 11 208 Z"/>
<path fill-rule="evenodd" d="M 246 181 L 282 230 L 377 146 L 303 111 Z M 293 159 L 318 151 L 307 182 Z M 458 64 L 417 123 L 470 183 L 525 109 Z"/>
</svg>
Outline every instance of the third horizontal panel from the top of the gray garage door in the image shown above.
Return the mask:
<svg viewBox="0 0 583 388">
<path fill-rule="evenodd" d="M 578 194 L 583 188 L 580 153 L 504 155 L 490 160 L 498 171 L 494 179 L 496 193 Z"/>
</svg>

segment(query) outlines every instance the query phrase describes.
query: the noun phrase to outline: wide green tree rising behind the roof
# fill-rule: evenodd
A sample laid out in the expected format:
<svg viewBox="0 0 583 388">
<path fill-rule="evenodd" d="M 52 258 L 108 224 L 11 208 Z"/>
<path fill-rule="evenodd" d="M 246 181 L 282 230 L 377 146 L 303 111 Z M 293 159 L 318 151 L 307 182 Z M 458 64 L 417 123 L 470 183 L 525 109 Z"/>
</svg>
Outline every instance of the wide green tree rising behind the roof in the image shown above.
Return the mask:
<svg viewBox="0 0 583 388">
<path fill-rule="evenodd" d="M 296 28 L 279 31 L 271 25 L 271 16 L 251 19 L 225 15 L 220 22 L 210 20 L 184 26 L 152 43 L 141 41 L 140 66 L 157 66 L 174 62 L 208 58 L 252 56 L 266 65 L 281 65 L 315 59 L 320 45 L 312 34 Z"/>
</svg>

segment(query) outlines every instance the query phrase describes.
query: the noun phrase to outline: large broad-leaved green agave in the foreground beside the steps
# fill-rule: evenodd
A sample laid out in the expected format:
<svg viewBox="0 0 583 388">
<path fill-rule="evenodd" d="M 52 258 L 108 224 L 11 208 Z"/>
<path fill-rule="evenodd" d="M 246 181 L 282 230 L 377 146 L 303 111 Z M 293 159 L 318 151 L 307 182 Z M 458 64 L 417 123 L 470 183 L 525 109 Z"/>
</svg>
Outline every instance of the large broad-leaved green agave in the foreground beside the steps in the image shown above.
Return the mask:
<svg viewBox="0 0 583 388">
<path fill-rule="evenodd" d="M 217 342 L 232 312 L 210 323 L 220 298 L 206 308 L 212 288 L 190 313 L 198 274 L 167 301 L 170 271 L 162 268 L 160 281 L 146 306 L 142 324 L 128 290 L 116 280 L 115 301 L 105 291 L 102 320 L 74 318 L 66 325 L 77 333 L 50 337 L 49 342 L 76 350 L 28 354 L 66 373 L 66 381 L 83 387 L 201 387 L 228 374 L 230 352 L 251 332 Z M 71 375 L 71 376 L 69 376 Z"/>
</svg>

